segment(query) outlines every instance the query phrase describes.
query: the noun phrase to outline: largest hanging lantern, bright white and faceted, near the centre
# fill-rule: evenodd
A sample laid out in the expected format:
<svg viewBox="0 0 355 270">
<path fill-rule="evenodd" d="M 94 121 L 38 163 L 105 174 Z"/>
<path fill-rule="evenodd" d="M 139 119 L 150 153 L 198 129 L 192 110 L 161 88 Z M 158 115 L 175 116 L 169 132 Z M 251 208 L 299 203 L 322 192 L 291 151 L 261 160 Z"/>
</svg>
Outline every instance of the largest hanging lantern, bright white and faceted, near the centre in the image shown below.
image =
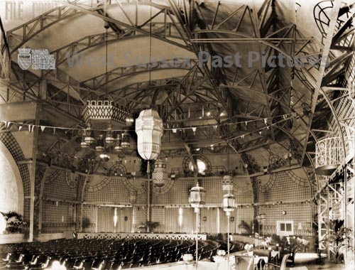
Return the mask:
<svg viewBox="0 0 355 270">
<path fill-rule="evenodd" d="M 160 153 L 163 120 L 155 109 L 145 109 L 136 119 L 137 148 L 146 160 L 156 159 Z"/>
</svg>

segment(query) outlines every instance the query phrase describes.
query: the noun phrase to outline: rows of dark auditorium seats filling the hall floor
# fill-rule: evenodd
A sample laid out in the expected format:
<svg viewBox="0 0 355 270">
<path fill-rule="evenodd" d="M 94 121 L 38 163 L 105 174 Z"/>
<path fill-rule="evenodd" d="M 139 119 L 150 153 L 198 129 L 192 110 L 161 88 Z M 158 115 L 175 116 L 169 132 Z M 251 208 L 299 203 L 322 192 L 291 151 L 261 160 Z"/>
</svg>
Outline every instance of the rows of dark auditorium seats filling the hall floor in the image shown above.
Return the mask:
<svg viewBox="0 0 355 270">
<path fill-rule="evenodd" d="M 234 246 L 232 246 L 234 247 Z M 199 260 L 212 259 L 222 244 L 199 242 Z M 190 253 L 195 242 L 165 239 L 58 239 L 0 245 L 1 269 L 117 270 L 175 262 Z"/>
</svg>

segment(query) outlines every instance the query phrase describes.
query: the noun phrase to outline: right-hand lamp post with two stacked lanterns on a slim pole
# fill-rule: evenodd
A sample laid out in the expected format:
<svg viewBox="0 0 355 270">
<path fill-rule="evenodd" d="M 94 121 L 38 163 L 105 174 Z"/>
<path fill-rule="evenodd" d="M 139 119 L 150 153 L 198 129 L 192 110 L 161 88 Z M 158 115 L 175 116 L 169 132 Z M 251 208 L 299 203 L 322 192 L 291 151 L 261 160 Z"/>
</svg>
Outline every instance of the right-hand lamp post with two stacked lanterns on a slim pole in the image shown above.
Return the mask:
<svg viewBox="0 0 355 270">
<path fill-rule="evenodd" d="M 230 217 L 231 217 L 231 212 L 234 211 L 234 208 L 236 207 L 236 199 L 234 198 L 234 191 L 233 191 L 233 178 L 231 175 L 225 175 L 223 177 L 223 182 L 222 182 L 222 190 L 223 190 L 223 199 L 222 199 L 222 207 L 224 212 L 226 212 L 226 218 L 227 218 L 227 264 L 229 267 L 229 223 L 230 223 Z"/>
</svg>

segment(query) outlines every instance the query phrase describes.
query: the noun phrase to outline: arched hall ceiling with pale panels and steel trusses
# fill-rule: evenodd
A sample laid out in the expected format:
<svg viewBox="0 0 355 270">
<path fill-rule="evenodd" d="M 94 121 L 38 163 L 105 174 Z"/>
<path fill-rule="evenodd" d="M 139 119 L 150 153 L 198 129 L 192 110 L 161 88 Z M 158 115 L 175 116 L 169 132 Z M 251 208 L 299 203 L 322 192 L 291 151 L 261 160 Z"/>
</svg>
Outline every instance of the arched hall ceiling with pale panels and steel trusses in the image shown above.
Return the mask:
<svg viewBox="0 0 355 270">
<path fill-rule="evenodd" d="M 165 149 L 228 144 L 241 153 L 275 144 L 308 166 L 315 141 L 334 115 L 331 100 L 337 91 L 324 87 L 344 88 L 340 80 L 354 57 L 354 6 L 348 2 L 59 1 L 58 8 L 7 29 L 10 85 L 18 90 L 14 99 L 23 99 L 21 92 L 25 99 L 45 99 L 43 121 L 48 124 L 84 126 L 80 112 L 86 100 L 108 95 L 135 116 L 155 107 L 165 128 L 209 126 L 195 134 L 190 129 L 165 132 Z M 23 47 L 47 48 L 55 55 L 56 69 L 28 69 L 21 76 L 17 55 Z M 241 67 L 214 68 L 211 61 L 200 65 L 200 51 L 222 58 L 239 53 Z M 331 63 L 324 69 L 310 63 L 272 67 L 261 60 L 251 66 L 251 51 L 289 60 L 329 55 Z M 107 73 L 102 64 L 106 52 Z M 180 67 L 159 62 L 147 68 L 149 56 L 153 61 L 178 58 Z M 80 65 L 70 65 L 67 58 L 75 57 Z M 45 93 L 40 92 L 43 79 L 48 82 Z M 258 121 L 230 124 L 250 119 Z M 222 123 L 229 125 L 213 128 Z M 266 124 L 271 126 L 266 129 Z M 336 128 L 341 129 L 339 124 Z M 53 144 L 43 144 L 44 151 L 48 145 Z"/>
</svg>

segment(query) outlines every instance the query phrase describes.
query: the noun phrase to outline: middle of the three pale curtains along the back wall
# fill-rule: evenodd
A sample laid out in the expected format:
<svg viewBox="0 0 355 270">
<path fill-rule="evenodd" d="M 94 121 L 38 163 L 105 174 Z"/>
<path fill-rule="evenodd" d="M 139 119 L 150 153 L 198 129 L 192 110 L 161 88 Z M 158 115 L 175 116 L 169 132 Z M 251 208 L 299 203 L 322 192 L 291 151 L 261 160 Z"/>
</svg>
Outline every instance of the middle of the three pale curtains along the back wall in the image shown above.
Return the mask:
<svg viewBox="0 0 355 270">
<path fill-rule="evenodd" d="M 165 232 L 191 234 L 195 232 L 195 219 L 193 208 L 165 208 Z"/>
</svg>

